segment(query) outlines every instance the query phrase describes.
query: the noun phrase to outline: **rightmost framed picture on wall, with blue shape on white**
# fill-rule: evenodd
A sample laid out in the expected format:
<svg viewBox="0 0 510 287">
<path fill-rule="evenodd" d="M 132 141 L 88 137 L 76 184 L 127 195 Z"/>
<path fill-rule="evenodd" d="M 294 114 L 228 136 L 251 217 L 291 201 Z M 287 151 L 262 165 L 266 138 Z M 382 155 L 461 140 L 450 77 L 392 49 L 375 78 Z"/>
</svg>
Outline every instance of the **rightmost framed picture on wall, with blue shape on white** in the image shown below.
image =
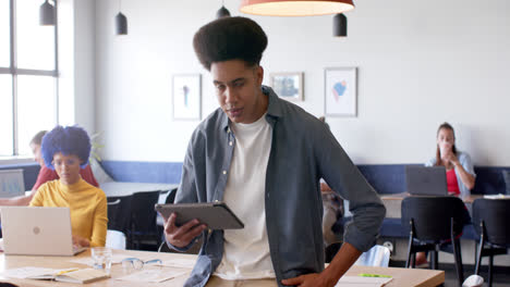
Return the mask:
<svg viewBox="0 0 510 287">
<path fill-rule="evenodd" d="M 357 116 L 357 68 L 325 68 L 324 113 L 326 116 Z"/>
</svg>

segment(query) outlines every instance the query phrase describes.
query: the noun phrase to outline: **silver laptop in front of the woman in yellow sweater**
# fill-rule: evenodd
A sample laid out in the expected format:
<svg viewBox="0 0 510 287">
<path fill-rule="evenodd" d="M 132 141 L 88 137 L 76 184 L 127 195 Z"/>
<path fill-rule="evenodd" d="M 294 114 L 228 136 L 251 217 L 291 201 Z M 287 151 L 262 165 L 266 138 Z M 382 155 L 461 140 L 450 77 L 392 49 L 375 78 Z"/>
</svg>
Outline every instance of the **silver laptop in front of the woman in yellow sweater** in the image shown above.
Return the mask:
<svg viewBox="0 0 510 287">
<path fill-rule="evenodd" d="M 3 251 L 20 255 L 74 255 L 69 208 L 1 207 Z"/>
</svg>

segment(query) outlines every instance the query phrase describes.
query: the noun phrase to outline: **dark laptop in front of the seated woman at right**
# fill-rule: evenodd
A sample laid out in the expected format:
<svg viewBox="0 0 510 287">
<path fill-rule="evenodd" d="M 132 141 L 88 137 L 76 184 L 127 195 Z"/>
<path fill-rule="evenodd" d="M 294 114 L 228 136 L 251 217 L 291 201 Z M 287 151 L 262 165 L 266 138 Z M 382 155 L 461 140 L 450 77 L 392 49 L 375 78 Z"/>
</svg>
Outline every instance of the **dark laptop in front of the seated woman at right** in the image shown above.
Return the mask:
<svg viewBox="0 0 510 287">
<path fill-rule="evenodd" d="M 448 196 L 445 166 L 405 166 L 408 192 L 413 196 Z"/>
</svg>

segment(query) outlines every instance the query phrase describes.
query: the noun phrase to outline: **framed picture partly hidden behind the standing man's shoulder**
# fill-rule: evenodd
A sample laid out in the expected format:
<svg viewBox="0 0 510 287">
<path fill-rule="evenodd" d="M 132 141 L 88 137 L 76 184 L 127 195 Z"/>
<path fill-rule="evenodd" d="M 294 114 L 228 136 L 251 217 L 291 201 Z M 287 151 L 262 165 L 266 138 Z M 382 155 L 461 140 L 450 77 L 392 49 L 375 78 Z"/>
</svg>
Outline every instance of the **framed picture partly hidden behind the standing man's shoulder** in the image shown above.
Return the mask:
<svg viewBox="0 0 510 287">
<path fill-rule="evenodd" d="M 269 78 L 278 97 L 289 101 L 303 101 L 303 72 L 271 73 Z"/>
</svg>

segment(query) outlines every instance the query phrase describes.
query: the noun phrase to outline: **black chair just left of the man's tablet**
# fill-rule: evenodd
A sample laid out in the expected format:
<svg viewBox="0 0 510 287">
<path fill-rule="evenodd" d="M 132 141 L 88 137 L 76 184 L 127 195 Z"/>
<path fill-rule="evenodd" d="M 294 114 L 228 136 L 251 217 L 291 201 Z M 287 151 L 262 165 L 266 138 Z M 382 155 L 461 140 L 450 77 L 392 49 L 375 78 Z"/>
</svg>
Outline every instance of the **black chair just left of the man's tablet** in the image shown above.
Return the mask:
<svg viewBox="0 0 510 287">
<path fill-rule="evenodd" d="M 129 247 L 139 250 L 142 245 L 154 246 L 157 250 L 160 244 L 160 233 L 156 224 L 158 191 L 135 192 L 131 202 L 131 228 L 127 230 Z"/>
</svg>

